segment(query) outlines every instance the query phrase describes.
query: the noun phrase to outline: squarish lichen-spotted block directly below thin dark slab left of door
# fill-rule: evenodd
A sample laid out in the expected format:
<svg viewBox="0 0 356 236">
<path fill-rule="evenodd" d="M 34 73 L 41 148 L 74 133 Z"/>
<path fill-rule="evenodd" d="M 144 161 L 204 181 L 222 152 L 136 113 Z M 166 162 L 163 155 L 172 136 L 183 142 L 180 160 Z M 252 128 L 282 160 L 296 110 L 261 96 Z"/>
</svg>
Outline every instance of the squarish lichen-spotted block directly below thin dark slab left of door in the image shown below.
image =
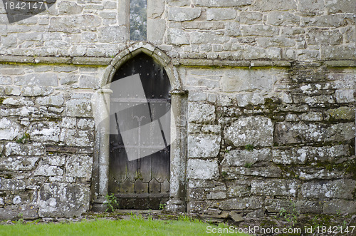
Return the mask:
<svg viewBox="0 0 356 236">
<path fill-rule="evenodd" d="M 90 180 L 93 158 L 88 155 L 72 155 L 66 162 L 66 175 Z"/>
</svg>

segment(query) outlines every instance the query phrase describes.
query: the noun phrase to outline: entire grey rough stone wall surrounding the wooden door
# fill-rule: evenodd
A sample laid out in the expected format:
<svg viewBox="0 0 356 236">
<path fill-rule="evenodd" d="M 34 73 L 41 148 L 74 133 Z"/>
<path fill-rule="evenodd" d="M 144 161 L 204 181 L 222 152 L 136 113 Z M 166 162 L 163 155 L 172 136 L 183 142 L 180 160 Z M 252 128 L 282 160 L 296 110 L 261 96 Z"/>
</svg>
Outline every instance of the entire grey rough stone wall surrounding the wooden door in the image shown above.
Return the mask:
<svg viewBox="0 0 356 236">
<path fill-rule="evenodd" d="M 0 220 L 100 203 L 92 98 L 139 52 L 166 68 L 185 120 L 169 209 L 356 213 L 355 1 L 148 0 L 145 42 L 130 41 L 128 6 L 58 0 L 9 24 L 0 3 Z"/>
</svg>

